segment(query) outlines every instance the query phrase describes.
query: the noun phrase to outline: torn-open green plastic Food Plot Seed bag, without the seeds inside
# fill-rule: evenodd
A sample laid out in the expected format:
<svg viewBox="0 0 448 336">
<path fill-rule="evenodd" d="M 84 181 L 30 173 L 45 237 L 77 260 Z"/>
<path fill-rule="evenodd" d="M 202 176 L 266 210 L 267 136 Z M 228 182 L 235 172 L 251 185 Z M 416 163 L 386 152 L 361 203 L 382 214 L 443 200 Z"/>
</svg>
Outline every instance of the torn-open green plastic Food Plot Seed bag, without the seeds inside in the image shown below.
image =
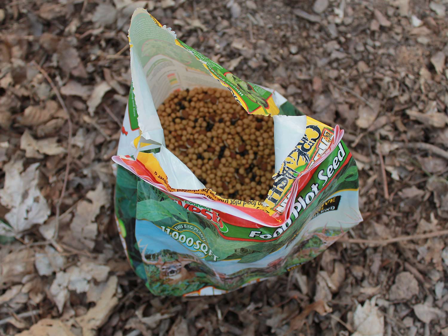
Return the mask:
<svg viewBox="0 0 448 336">
<path fill-rule="evenodd" d="M 144 9 L 134 12 L 129 44 L 115 211 L 129 263 L 152 293 L 216 295 L 278 276 L 362 220 L 358 169 L 337 125 L 241 80 Z M 199 86 L 227 88 L 254 118 L 273 118 L 275 174 L 263 202 L 220 197 L 165 146 L 157 108 L 172 92 Z"/>
</svg>

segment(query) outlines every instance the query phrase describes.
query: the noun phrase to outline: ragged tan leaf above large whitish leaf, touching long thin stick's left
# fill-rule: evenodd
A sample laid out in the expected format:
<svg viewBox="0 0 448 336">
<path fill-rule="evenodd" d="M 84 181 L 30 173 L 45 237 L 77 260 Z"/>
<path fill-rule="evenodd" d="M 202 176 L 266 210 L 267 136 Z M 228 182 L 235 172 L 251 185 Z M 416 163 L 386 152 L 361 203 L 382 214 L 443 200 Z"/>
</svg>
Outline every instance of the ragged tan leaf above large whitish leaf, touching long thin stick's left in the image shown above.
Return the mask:
<svg viewBox="0 0 448 336">
<path fill-rule="evenodd" d="M 30 131 L 26 129 L 20 138 L 20 149 L 25 151 L 27 158 L 35 159 L 42 159 L 42 154 L 59 155 L 65 153 L 65 148 L 57 140 L 57 137 L 36 140 L 31 136 Z"/>
</svg>

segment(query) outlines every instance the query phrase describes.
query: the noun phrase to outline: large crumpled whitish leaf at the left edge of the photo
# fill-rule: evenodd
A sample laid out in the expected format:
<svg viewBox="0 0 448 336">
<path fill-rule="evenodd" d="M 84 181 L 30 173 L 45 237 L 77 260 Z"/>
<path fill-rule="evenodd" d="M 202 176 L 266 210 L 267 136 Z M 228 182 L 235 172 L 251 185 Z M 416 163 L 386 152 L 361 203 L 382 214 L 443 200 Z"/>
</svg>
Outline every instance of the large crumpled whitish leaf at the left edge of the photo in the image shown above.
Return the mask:
<svg viewBox="0 0 448 336">
<path fill-rule="evenodd" d="M 50 215 L 47 200 L 37 187 L 39 162 L 30 164 L 23 172 L 23 159 L 11 160 L 4 165 L 4 188 L 0 190 L 0 203 L 10 209 L 4 215 L 9 226 L 0 221 L 0 234 L 20 236 L 34 224 L 43 224 Z"/>
</svg>

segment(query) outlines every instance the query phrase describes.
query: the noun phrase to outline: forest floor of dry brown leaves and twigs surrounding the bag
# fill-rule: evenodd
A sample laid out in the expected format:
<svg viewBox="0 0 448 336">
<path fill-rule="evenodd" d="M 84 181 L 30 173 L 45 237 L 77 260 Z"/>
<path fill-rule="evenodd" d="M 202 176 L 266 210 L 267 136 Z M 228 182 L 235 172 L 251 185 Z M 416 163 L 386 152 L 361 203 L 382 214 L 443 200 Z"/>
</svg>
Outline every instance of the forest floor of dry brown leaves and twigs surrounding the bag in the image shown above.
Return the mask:
<svg viewBox="0 0 448 336">
<path fill-rule="evenodd" d="M 113 215 L 136 7 L 340 125 L 364 221 L 276 279 L 153 296 Z M 1 1 L 0 219 L 16 239 L 0 236 L 0 335 L 448 335 L 447 10 L 446 0 Z"/>
</svg>

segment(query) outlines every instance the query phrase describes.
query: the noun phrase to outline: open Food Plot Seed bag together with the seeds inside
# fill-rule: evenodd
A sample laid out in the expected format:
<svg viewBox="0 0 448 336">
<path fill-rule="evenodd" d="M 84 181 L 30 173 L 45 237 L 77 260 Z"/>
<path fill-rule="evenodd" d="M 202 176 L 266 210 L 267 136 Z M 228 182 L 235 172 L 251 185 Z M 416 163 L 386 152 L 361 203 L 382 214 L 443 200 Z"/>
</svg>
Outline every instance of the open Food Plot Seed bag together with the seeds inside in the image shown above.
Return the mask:
<svg viewBox="0 0 448 336">
<path fill-rule="evenodd" d="M 337 125 L 241 80 L 144 9 L 129 44 L 115 211 L 152 293 L 215 295 L 278 276 L 362 220 Z"/>
</svg>

